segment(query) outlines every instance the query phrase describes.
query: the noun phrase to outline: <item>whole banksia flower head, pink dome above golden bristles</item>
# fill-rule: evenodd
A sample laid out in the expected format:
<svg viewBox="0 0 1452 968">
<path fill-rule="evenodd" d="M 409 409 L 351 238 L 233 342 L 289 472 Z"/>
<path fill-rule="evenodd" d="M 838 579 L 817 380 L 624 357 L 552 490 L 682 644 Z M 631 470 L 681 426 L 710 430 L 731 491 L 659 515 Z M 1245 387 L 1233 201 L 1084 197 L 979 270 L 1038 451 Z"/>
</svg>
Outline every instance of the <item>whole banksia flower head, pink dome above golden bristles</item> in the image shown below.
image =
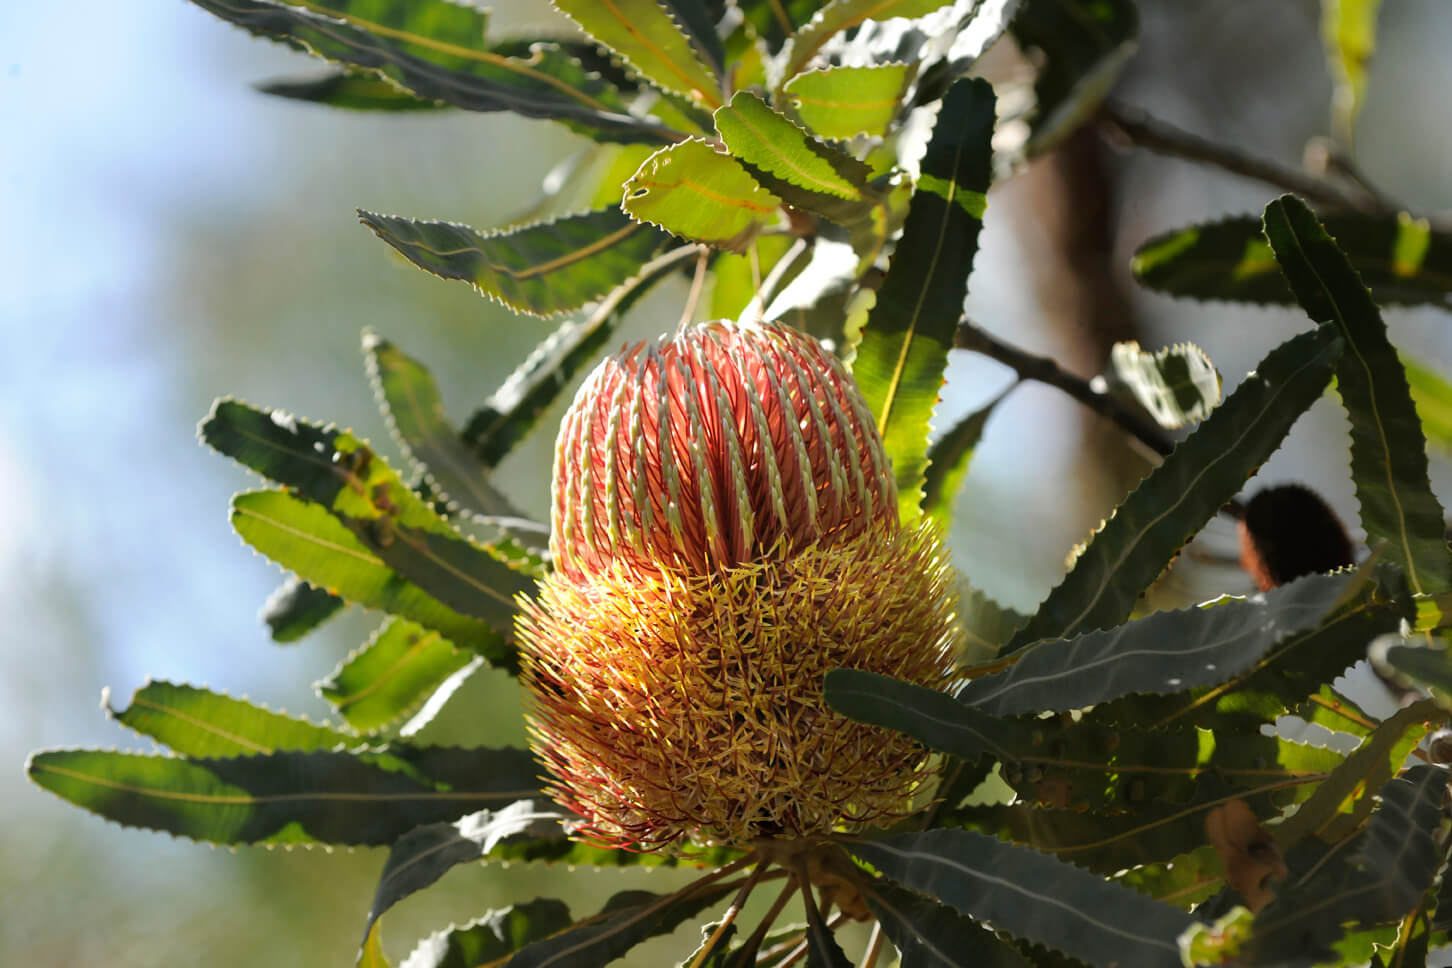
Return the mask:
<svg viewBox="0 0 1452 968">
<path fill-rule="evenodd" d="M 899 524 L 871 415 L 815 340 L 719 321 L 607 358 L 560 427 L 550 518 L 520 641 L 581 833 L 743 845 L 910 808 L 921 747 L 833 713 L 822 678 L 941 684 L 950 569 Z"/>
</svg>

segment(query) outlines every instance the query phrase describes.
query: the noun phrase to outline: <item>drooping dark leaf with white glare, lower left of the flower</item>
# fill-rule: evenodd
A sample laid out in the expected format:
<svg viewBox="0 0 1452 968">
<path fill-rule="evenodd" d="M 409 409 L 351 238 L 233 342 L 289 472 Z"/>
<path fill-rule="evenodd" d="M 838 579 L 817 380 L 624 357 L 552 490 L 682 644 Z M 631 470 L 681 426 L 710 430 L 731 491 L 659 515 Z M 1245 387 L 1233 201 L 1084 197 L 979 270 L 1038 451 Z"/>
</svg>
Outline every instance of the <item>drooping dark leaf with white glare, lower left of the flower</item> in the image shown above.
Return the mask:
<svg viewBox="0 0 1452 968">
<path fill-rule="evenodd" d="M 409 830 L 393 842 L 388 864 L 373 891 L 364 935 L 383 911 L 424 890 L 450 868 L 489 853 L 514 837 L 563 837 L 562 814 L 552 804 L 520 800 L 499 810 L 481 810 L 453 821 L 431 823 Z"/>
</svg>

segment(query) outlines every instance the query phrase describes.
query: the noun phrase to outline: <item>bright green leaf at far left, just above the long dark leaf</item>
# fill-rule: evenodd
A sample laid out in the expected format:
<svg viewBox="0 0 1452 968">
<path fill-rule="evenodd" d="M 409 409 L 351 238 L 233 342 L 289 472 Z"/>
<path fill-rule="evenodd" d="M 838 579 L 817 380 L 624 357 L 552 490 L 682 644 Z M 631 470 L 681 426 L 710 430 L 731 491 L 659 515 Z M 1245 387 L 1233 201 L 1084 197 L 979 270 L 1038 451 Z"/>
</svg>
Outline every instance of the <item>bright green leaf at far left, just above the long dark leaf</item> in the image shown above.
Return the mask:
<svg viewBox="0 0 1452 968">
<path fill-rule="evenodd" d="M 126 729 L 183 756 L 247 756 L 274 750 L 324 750 L 357 740 L 305 718 L 273 713 L 245 700 L 174 682 L 148 682 L 131 705 L 106 711 Z"/>
</svg>

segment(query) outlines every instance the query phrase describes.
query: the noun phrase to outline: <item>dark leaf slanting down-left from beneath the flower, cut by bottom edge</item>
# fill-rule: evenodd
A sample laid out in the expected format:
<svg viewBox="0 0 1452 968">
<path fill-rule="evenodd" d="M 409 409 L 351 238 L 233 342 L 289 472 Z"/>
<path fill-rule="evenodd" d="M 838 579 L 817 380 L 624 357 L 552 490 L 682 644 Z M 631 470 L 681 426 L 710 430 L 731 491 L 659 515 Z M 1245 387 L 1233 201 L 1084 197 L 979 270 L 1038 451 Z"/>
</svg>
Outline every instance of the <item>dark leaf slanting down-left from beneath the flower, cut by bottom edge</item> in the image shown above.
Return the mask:
<svg viewBox="0 0 1452 968">
<path fill-rule="evenodd" d="M 523 948 L 510 968 L 598 968 L 656 935 L 666 935 L 701 913 L 735 885 L 719 882 L 690 885 L 675 894 L 621 891 L 605 901 L 594 917 L 576 922 L 569 930 Z"/>
</svg>

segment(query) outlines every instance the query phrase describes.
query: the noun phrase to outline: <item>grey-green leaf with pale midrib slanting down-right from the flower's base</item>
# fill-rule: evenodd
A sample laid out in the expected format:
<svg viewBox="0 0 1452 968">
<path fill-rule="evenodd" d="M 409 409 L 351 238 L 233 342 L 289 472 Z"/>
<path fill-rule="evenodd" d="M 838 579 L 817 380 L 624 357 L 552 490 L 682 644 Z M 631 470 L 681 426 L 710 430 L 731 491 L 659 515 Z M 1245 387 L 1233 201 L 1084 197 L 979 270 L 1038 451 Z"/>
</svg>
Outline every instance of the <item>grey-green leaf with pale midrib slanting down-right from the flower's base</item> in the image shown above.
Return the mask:
<svg viewBox="0 0 1452 968">
<path fill-rule="evenodd" d="M 996 930 L 1088 965 L 1179 968 L 1175 939 L 1194 920 L 1112 881 L 967 830 L 929 830 L 844 846 L 897 884 Z"/>
</svg>

